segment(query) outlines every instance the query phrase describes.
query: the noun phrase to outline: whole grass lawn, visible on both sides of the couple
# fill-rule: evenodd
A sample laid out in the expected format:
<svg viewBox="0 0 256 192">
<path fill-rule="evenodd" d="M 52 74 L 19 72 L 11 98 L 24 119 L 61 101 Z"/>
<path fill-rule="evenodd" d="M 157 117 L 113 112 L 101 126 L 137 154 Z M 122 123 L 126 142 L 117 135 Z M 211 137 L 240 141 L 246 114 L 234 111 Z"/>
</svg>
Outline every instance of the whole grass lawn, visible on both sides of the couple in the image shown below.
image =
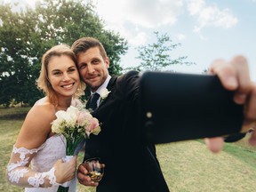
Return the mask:
<svg viewBox="0 0 256 192">
<path fill-rule="evenodd" d="M 7 183 L 4 174 L 27 111 L 28 108 L 0 108 L 0 191 L 23 190 Z M 255 191 L 256 148 L 250 147 L 247 140 L 248 136 L 236 143 L 226 143 L 219 154 L 212 154 L 202 140 L 157 145 L 157 156 L 170 191 Z M 78 185 L 77 191 L 93 192 L 95 188 Z"/>
</svg>

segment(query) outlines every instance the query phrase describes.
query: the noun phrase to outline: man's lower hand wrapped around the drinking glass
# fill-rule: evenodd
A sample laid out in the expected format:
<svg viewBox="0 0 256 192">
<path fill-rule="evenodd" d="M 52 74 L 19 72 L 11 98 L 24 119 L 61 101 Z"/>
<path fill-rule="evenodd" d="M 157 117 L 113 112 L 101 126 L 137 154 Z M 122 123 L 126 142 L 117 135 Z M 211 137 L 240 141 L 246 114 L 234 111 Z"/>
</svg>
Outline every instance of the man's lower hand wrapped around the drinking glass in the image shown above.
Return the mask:
<svg viewBox="0 0 256 192">
<path fill-rule="evenodd" d="M 80 164 L 77 170 L 77 180 L 80 184 L 84 186 L 97 187 L 99 182 L 93 182 L 89 176 L 87 176 L 88 171 L 85 168 L 84 164 Z"/>
</svg>

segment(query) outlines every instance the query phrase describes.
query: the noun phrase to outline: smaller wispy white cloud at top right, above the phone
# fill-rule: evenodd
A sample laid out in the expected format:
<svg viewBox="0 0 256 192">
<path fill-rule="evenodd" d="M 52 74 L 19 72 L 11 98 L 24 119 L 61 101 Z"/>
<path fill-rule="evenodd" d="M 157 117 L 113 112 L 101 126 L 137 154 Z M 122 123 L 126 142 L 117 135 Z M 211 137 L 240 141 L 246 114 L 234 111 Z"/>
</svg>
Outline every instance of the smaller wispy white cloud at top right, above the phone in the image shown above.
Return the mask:
<svg viewBox="0 0 256 192">
<path fill-rule="evenodd" d="M 189 0 L 187 5 L 188 12 L 197 19 L 194 32 L 207 27 L 231 28 L 238 21 L 228 8 L 220 10 L 216 5 L 206 5 L 204 0 Z"/>
</svg>

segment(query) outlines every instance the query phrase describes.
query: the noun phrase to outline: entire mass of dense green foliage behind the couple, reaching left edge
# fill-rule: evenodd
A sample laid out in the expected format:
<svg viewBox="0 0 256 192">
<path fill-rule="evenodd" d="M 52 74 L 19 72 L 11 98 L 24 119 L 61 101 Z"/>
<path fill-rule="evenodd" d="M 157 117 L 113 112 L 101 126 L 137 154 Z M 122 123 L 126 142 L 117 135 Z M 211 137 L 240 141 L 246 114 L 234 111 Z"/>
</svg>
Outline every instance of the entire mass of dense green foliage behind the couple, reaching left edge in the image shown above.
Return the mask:
<svg viewBox="0 0 256 192">
<path fill-rule="evenodd" d="M 122 71 L 120 57 L 127 42 L 119 34 L 104 29 L 104 21 L 91 1 L 37 1 L 36 8 L 12 11 L 0 5 L 0 104 L 11 100 L 32 105 L 43 94 L 36 88 L 41 58 L 55 44 L 73 44 L 82 36 L 98 38 L 111 61 L 110 74 Z"/>
</svg>

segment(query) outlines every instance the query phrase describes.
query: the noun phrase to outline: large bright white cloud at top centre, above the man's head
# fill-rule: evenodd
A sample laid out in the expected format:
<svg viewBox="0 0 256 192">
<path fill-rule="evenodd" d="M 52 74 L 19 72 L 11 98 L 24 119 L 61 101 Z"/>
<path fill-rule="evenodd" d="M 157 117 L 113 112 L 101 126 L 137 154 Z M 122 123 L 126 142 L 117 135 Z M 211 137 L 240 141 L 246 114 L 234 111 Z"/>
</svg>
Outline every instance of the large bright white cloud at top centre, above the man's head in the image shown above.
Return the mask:
<svg viewBox="0 0 256 192">
<path fill-rule="evenodd" d="M 172 26 L 181 14 L 183 0 L 95 0 L 106 27 L 118 31 L 130 44 L 147 40 L 145 30 Z M 129 28 L 127 30 L 127 28 Z"/>
</svg>

